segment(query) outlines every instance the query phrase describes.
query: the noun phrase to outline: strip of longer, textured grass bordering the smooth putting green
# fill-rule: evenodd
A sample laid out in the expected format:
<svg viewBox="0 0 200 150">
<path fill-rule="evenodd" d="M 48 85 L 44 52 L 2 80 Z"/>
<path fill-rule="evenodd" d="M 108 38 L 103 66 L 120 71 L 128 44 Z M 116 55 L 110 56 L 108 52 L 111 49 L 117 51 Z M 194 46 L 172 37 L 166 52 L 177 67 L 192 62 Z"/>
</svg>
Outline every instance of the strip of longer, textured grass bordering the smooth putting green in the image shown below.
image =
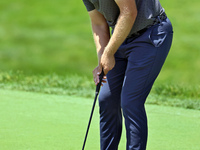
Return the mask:
<svg viewBox="0 0 200 150">
<path fill-rule="evenodd" d="M 80 75 L 27 75 L 23 72 L 1 72 L 0 88 L 57 95 L 94 97 L 92 78 Z M 147 103 L 200 110 L 200 86 L 156 83 Z"/>
</svg>

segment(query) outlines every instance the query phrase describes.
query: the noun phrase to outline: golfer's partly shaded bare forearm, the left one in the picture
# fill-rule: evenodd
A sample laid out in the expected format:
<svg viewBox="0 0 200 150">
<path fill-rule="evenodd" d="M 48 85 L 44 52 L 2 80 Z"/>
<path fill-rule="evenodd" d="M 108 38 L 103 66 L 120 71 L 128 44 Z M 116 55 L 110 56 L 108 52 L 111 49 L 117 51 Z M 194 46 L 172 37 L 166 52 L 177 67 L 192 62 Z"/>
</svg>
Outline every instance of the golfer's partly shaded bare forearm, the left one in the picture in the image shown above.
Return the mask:
<svg viewBox="0 0 200 150">
<path fill-rule="evenodd" d="M 101 25 L 92 23 L 92 31 L 97 50 L 98 63 L 100 64 L 101 55 L 110 40 L 110 31 L 107 23 Z"/>
</svg>

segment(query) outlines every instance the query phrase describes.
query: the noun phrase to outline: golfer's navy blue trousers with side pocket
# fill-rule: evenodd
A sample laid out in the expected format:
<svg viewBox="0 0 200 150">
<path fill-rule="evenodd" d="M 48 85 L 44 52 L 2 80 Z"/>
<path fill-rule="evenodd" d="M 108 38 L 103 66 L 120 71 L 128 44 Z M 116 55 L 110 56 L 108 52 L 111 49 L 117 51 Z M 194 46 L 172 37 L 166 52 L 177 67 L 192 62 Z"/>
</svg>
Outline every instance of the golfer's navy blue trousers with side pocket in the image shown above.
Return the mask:
<svg viewBox="0 0 200 150">
<path fill-rule="evenodd" d="M 117 150 L 126 127 L 126 149 L 145 150 L 147 117 L 144 103 L 171 47 L 169 19 L 138 37 L 127 38 L 115 54 L 115 67 L 107 74 L 99 95 L 101 150 Z"/>
</svg>

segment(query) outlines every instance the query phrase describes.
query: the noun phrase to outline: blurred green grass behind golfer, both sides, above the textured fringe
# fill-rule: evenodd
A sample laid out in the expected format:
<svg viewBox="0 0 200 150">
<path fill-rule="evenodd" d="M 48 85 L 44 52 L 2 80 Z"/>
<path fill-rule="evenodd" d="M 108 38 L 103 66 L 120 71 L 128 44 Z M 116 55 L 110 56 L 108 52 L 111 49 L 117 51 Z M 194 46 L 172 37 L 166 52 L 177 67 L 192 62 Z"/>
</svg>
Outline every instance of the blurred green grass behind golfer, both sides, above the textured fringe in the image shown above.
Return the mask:
<svg viewBox="0 0 200 150">
<path fill-rule="evenodd" d="M 158 82 L 199 85 L 200 1 L 161 3 L 174 40 Z M 0 70 L 92 76 L 97 57 L 82 1 L 7 0 L 0 2 L 0 13 Z"/>
</svg>

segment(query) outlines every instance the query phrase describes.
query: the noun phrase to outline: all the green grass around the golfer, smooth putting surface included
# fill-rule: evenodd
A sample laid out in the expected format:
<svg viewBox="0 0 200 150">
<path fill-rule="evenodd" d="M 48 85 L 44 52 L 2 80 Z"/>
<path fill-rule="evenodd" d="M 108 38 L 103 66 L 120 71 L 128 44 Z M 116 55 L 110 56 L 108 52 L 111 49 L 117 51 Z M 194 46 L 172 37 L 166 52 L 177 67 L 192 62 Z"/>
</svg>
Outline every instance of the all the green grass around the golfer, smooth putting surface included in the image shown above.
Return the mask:
<svg viewBox="0 0 200 150">
<path fill-rule="evenodd" d="M 172 21 L 174 39 L 147 99 L 147 147 L 197 150 L 200 1 L 161 3 Z M 0 149 L 81 149 L 97 64 L 82 1 L 3 0 L 0 13 Z M 96 108 L 87 149 L 99 149 L 98 134 Z"/>
</svg>

